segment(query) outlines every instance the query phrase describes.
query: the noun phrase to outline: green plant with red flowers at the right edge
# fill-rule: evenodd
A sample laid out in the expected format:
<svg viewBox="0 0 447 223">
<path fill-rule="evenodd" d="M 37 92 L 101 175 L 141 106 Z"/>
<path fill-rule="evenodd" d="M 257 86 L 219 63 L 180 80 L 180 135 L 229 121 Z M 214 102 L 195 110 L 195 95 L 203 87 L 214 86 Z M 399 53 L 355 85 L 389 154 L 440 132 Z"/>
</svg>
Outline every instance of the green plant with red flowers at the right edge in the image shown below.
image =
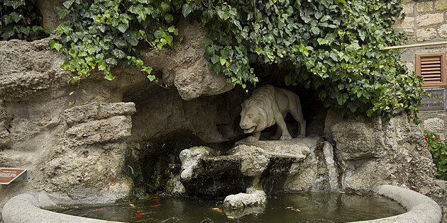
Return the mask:
<svg viewBox="0 0 447 223">
<path fill-rule="evenodd" d="M 438 169 L 436 175 L 442 180 L 447 179 L 447 144 L 441 138 L 434 134 L 434 132 L 424 131 L 427 144 L 433 161 Z"/>
</svg>

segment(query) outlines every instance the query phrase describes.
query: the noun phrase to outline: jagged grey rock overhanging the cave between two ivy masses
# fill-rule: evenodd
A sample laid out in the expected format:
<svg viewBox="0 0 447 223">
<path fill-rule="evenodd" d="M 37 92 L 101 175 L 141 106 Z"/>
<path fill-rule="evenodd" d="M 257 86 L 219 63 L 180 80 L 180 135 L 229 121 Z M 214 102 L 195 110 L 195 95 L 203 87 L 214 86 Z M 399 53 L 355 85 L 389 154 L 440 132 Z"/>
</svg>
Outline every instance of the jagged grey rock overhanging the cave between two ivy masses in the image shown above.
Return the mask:
<svg viewBox="0 0 447 223">
<path fill-rule="evenodd" d="M 175 86 L 184 100 L 202 95 L 216 95 L 231 90 L 226 77 L 209 69 L 204 58 L 206 30 L 199 23 L 180 21 L 177 24 L 179 36 L 183 38 L 174 50 L 151 50 L 141 57 L 155 69 L 162 72 L 168 86 Z"/>
</svg>

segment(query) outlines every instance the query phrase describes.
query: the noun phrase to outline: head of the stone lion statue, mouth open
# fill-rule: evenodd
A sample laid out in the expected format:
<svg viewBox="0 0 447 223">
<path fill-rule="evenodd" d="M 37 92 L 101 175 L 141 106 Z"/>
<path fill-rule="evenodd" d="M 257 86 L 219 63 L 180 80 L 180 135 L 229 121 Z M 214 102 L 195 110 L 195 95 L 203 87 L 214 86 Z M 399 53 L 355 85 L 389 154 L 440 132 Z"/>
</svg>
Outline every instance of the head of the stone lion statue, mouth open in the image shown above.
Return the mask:
<svg viewBox="0 0 447 223">
<path fill-rule="evenodd" d="M 239 126 L 245 133 L 260 132 L 269 127 L 267 113 L 259 101 L 244 101 Z"/>
</svg>

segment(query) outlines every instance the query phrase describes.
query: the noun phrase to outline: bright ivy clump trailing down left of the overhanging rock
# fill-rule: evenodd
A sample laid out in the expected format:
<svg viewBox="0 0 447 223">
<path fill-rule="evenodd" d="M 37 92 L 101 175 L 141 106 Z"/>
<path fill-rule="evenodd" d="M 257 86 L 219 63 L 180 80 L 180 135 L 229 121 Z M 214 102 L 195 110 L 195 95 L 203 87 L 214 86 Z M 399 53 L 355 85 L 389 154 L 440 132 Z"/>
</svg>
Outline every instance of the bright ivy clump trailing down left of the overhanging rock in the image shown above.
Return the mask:
<svg viewBox="0 0 447 223">
<path fill-rule="evenodd" d="M 119 63 L 139 67 L 150 81 L 158 81 L 138 55 L 137 45 L 172 47 L 178 35 L 175 24 L 182 0 L 68 0 L 57 8 L 59 25 L 50 47 L 62 52 L 62 68 L 75 72 L 72 83 L 89 76 L 92 69 L 113 80 L 111 69 Z"/>
</svg>

